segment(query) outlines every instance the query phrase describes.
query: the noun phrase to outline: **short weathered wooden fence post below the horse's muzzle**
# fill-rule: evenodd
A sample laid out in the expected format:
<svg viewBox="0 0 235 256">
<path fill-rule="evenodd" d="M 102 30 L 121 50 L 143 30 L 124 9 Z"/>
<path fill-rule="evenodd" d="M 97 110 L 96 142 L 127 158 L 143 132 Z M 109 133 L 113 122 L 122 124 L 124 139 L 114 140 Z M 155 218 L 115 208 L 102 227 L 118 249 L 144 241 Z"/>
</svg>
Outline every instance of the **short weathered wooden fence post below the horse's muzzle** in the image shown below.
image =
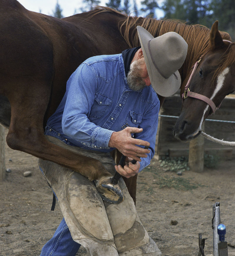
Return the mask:
<svg viewBox="0 0 235 256">
<path fill-rule="evenodd" d="M 202 125 L 204 130 L 204 124 Z M 193 172 L 201 173 L 204 169 L 204 141 L 203 136 L 198 136 L 189 143 L 188 166 Z"/>
</svg>

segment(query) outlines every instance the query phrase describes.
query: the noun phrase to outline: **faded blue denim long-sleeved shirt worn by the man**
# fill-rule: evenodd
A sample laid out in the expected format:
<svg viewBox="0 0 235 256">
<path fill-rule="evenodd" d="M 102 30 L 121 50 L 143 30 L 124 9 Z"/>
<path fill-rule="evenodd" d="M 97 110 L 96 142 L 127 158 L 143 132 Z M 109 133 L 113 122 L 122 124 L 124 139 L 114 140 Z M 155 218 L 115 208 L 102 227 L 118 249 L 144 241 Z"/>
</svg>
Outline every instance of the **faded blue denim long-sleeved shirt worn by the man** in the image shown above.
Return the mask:
<svg viewBox="0 0 235 256">
<path fill-rule="evenodd" d="M 159 108 L 151 86 L 129 89 L 122 54 L 95 56 L 71 75 L 61 104 L 47 125 L 69 144 L 103 152 L 114 149 L 108 146 L 114 131 L 127 126 L 143 128 L 133 134 L 150 143 L 151 152 L 142 158 L 142 170 L 154 155 Z"/>
</svg>

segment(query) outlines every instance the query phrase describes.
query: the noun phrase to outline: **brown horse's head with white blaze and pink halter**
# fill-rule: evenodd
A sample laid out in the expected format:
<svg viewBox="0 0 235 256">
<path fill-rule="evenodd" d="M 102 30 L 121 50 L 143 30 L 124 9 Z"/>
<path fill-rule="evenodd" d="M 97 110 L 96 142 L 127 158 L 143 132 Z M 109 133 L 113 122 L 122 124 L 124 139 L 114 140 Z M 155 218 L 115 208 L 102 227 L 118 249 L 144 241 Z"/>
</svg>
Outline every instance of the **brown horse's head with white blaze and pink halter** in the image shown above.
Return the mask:
<svg viewBox="0 0 235 256">
<path fill-rule="evenodd" d="M 223 40 L 218 21 L 210 31 L 210 47 L 194 66 L 183 94 L 183 107 L 174 128 L 175 138 L 189 141 L 201 133 L 205 118 L 235 90 L 235 44 Z"/>
</svg>

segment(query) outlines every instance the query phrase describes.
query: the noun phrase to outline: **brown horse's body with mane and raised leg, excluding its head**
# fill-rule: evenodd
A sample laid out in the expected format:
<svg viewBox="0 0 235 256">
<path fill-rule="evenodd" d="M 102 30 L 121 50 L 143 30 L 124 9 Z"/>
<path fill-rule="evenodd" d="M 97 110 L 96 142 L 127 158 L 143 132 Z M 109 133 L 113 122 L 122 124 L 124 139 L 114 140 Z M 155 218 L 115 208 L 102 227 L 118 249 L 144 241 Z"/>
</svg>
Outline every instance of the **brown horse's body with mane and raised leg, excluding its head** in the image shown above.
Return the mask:
<svg viewBox="0 0 235 256">
<path fill-rule="evenodd" d="M 188 55 L 180 70 L 183 84 L 192 63 L 210 47 L 210 30 L 199 25 L 129 17 L 109 8 L 60 20 L 28 11 L 16 0 L 0 0 L 0 119 L 9 128 L 9 147 L 67 166 L 90 180 L 110 176 L 99 161 L 47 141 L 44 127 L 76 67 L 88 57 L 139 46 L 137 25 L 154 37 L 175 31 L 187 41 Z M 227 33 L 221 35 L 230 40 Z M 135 186 L 136 176 L 132 180 Z M 135 189 L 131 194 L 135 196 Z"/>
</svg>

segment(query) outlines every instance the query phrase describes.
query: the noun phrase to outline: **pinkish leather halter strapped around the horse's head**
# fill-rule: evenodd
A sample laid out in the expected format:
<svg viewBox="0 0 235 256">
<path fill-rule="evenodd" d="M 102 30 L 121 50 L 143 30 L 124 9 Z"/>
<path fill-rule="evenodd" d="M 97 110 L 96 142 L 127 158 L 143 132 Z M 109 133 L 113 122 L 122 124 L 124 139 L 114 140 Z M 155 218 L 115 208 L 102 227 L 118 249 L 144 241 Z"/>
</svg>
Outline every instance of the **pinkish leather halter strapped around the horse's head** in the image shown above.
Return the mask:
<svg viewBox="0 0 235 256">
<path fill-rule="evenodd" d="M 223 41 L 231 43 L 228 40 L 223 40 Z M 211 99 L 209 99 L 208 97 L 206 97 L 206 96 L 204 96 L 202 94 L 199 94 L 199 93 L 191 92 L 189 90 L 189 84 L 191 82 L 192 76 L 195 73 L 195 71 L 197 70 L 197 67 L 198 67 L 200 61 L 202 60 L 202 57 L 203 56 L 201 56 L 200 59 L 192 66 L 193 70 L 192 70 L 192 73 L 191 73 L 191 75 L 190 75 L 190 77 L 188 79 L 188 82 L 187 82 L 187 84 L 186 84 L 186 86 L 184 88 L 184 93 L 182 94 L 182 100 L 186 99 L 187 97 L 203 100 L 205 103 L 207 103 L 211 107 L 211 109 L 212 109 L 212 111 L 214 113 L 214 112 L 216 112 L 217 109 L 220 108 L 221 104 L 218 107 L 216 107 L 216 105 L 213 103 L 213 101 Z"/>
</svg>

